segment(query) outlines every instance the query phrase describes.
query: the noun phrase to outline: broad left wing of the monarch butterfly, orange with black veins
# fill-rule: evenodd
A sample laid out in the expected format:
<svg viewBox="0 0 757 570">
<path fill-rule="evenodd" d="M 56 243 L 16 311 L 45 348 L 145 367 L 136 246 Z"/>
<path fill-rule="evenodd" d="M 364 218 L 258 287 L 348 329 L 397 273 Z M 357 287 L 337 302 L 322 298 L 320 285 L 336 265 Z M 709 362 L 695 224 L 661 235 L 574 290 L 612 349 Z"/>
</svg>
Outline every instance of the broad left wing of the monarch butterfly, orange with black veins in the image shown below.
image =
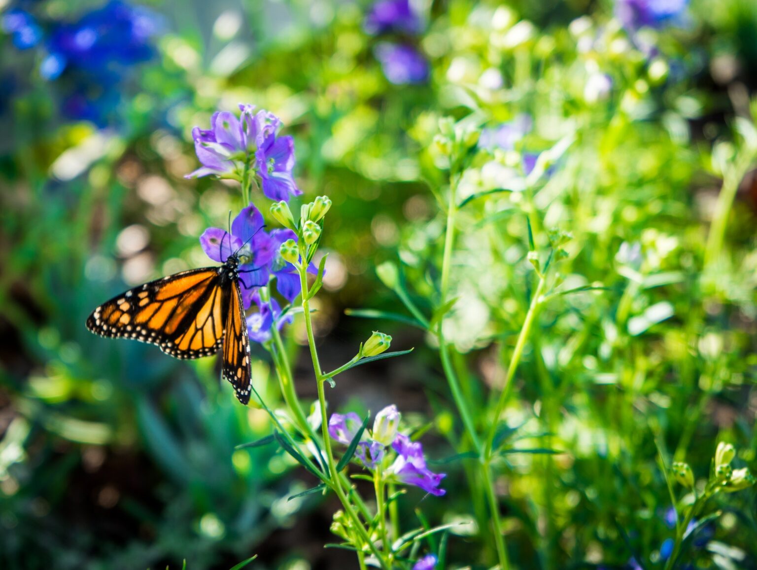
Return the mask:
<svg viewBox="0 0 757 570">
<path fill-rule="evenodd" d="M 215 354 L 223 343 L 223 291 L 217 267 L 191 269 L 125 291 L 97 307 L 87 329 L 157 344 L 176 358 Z"/>
</svg>

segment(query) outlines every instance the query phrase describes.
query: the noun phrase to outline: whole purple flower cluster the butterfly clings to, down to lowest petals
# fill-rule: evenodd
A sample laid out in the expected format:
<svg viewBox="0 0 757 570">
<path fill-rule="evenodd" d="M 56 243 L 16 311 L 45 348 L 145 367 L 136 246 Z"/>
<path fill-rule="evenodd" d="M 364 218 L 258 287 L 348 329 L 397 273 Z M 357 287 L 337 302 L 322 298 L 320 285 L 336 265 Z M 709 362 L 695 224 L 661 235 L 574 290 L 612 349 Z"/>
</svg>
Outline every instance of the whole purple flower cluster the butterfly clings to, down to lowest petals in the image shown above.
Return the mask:
<svg viewBox="0 0 757 570">
<path fill-rule="evenodd" d="M 276 289 L 287 301 L 300 294 L 300 281 L 291 263 L 282 260 L 279 246 L 287 239 L 297 240 L 288 229 L 263 230 L 263 215 L 250 205 L 235 217 L 231 233 L 220 228 L 208 228 L 200 236 L 200 245 L 211 260 L 224 263 L 234 252 L 239 256 L 239 285 L 245 309 L 255 304 L 259 312 L 248 318 L 254 341 L 268 340 L 271 324 L 280 313 L 279 304 L 271 301 L 270 307 L 261 304 L 257 288 L 267 285 L 270 276 L 276 277 Z M 308 270 L 317 273 L 312 264 Z M 297 276 L 297 279 L 294 277 Z M 282 323 L 279 323 L 281 325 Z"/>
</svg>

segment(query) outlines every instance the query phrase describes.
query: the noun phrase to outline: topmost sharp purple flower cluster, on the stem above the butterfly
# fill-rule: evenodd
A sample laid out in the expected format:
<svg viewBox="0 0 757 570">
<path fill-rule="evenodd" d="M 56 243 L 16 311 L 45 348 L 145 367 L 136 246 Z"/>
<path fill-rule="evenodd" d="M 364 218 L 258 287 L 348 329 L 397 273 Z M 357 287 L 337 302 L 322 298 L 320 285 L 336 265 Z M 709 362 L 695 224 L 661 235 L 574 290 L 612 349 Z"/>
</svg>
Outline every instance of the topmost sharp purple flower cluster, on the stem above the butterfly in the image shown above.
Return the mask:
<svg viewBox="0 0 757 570">
<path fill-rule="evenodd" d="M 241 117 L 218 111 L 210 118 L 210 129 L 192 129 L 195 152 L 202 166 L 186 178 L 213 174 L 242 181 L 245 170 L 260 177 L 263 194 L 272 200 L 288 201 L 302 194 L 294 182 L 294 140 L 277 136 L 281 120 L 273 113 L 240 104 Z"/>
</svg>

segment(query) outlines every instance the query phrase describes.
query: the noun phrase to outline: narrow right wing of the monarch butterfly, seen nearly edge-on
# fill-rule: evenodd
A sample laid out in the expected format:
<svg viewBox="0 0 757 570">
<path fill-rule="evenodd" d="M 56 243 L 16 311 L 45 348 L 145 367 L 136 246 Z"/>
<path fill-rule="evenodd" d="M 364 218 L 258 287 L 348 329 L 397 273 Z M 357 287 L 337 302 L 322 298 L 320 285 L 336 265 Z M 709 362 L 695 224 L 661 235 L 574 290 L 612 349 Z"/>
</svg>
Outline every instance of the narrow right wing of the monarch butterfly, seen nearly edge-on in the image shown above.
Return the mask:
<svg viewBox="0 0 757 570">
<path fill-rule="evenodd" d="M 250 339 L 247 335 L 245 307 L 241 301 L 239 282 L 232 280 L 226 307 L 226 324 L 223 333 L 223 365 L 221 374 L 232 383 L 237 399 L 247 405 L 250 401 L 252 378 L 250 366 Z"/>
</svg>

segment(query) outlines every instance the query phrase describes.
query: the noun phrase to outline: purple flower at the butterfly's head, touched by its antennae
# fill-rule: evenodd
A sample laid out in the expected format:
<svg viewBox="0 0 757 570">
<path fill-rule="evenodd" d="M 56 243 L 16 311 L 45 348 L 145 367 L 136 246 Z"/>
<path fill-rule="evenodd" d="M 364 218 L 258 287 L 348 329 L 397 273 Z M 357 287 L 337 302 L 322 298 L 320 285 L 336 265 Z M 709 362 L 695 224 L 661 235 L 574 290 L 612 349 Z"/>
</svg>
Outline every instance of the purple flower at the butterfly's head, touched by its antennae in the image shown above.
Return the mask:
<svg viewBox="0 0 757 570">
<path fill-rule="evenodd" d="M 225 263 L 236 252 L 239 257 L 239 284 L 245 309 L 249 308 L 254 288 L 268 282 L 270 261 L 276 255 L 273 241 L 262 231 L 263 215 L 250 205 L 235 217 L 232 232 L 208 228 L 200 236 L 200 245 L 211 260 Z"/>
</svg>

